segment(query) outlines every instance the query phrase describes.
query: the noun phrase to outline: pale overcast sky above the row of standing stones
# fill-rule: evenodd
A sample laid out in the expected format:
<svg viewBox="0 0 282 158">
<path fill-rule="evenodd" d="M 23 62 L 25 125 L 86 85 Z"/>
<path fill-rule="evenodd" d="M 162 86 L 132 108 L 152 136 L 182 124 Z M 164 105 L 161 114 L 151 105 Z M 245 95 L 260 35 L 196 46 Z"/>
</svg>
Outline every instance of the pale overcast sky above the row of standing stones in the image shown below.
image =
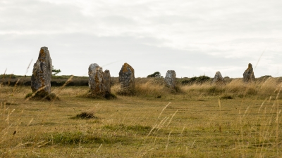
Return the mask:
<svg viewBox="0 0 282 158">
<path fill-rule="evenodd" d="M 281 77 L 282 1 L 0 0 L 0 74 L 31 75 L 42 46 L 62 75 Z"/>
</svg>

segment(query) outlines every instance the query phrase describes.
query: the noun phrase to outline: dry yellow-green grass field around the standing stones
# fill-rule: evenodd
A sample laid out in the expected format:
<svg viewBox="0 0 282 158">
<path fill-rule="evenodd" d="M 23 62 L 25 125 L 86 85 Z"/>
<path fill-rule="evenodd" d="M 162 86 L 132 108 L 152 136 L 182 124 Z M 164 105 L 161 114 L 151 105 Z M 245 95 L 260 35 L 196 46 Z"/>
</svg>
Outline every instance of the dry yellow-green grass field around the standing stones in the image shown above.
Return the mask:
<svg viewBox="0 0 282 158">
<path fill-rule="evenodd" d="M 281 157 L 281 81 L 136 84 L 136 96 L 25 100 L 29 86 L 0 87 L 0 157 Z M 118 85 L 111 87 L 116 94 Z M 78 114 L 86 112 L 93 118 Z"/>
</svg>

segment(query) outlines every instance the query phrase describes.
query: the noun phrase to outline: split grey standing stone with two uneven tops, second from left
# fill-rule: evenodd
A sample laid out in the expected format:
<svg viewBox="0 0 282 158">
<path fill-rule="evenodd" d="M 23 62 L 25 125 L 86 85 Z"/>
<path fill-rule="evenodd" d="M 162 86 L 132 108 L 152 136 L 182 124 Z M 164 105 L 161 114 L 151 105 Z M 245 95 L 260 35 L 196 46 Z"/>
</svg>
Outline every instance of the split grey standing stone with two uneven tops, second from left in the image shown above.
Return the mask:
<svg viewBox="0 0 282 158">
<path fill-rule="evenodd" d="M 109 70 L 103 72 L 103 68 L 94 63 L 89 66 L 88 75 L 88 84 L 92 95 L 105 97 L 111 93 L 111 74 Z"/>
</svg>

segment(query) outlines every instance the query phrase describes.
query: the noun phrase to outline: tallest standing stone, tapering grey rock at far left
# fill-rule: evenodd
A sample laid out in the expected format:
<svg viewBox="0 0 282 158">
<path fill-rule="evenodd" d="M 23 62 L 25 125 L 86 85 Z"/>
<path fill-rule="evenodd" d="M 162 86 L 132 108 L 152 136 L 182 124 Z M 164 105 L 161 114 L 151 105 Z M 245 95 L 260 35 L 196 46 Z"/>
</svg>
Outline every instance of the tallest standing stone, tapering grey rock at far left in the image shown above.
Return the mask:
<svg viewBox="0 0 282 158">
<path fill-rule="evenodd" d="M 33 65 L 31 88 L 32 92 L 51 93 L 52 60 L 47 47 L 40 48 L 39 57 Z"/>
</svg>

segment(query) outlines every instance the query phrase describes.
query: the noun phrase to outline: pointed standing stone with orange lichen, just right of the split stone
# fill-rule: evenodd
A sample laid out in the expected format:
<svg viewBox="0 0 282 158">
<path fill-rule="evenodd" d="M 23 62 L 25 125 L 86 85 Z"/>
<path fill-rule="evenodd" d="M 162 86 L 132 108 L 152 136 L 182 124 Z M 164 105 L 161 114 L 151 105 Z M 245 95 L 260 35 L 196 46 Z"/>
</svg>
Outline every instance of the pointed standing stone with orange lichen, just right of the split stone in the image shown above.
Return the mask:
<svg viewBox="0 0 282 158">
<path fill-rule="evenodd" d="M 125 95 L 132 95 L 135 93 L 134 69 L 126 62 L 121 67 L 118 81 L 121 84 L 121 91 L 119 93 Z"/>
</svg>

